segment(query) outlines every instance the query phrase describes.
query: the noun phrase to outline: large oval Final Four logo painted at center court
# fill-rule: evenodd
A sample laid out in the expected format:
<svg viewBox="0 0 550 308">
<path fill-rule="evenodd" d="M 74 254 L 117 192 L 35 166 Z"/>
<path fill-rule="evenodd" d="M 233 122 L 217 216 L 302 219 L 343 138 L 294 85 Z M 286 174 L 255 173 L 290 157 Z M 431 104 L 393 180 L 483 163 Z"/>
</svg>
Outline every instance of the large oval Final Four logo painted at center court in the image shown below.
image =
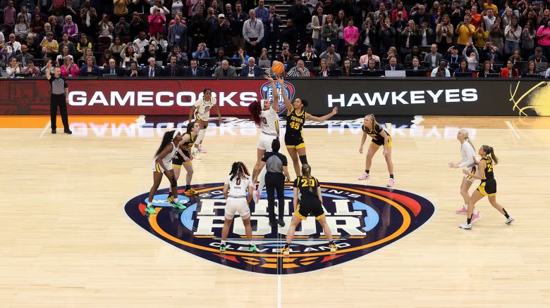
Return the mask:
<svg viewBox="0 0 550 308">
<path fill-rule="evenodd" d="M 225 205 L 221 183 L 195 187 L 198 195 L 181 197 L 185 210 L 173 209 L 166 202 L 167 189 L 158 191 L 152 200 L 157 214 L 145 213 L 148 193 L 128 201 L 125 210 L 136 224 L 166 243 L 218 264 L 262 274 L 297 274 L 352 261 L 412 233 L 435 211 L 429 200 L 405 191 L 340 183 L 324 183 L 321 188 L 326 221 L 338 245 L 336 252 L 330 251 L 322 229 L 309 217 L 296 230 L 291 255 L 281 255 L 293 213 L 292 187 L 288 185 L 285 227 L 269 226 L 265 193 L 258 205 L 250 204 L 258 252 L 247 252 L 240 217 L 233 219 L 226 252 L 219 252 Z"/>
</svg>

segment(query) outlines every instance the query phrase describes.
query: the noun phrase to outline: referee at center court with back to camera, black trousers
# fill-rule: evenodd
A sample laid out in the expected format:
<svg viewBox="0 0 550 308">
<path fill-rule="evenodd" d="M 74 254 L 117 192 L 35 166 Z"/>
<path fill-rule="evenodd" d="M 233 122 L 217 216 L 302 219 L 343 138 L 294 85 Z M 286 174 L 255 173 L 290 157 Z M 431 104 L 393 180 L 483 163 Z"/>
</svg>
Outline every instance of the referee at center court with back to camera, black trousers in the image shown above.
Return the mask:
<svg viewBox="0 0 550 308">
<path fill-rule="evenodd" d="M 265 165 L 267 173 L 265 174 L 265 188 L 267 191 L 267 212 L 269 213 L 269 226 L 285 226 L 283 220 L 285 208 L 285 177 L 286 181 L 291 181 L 291 175 L 288 174 L 286 156 L 279 153 L 281 143 L 279 139 L 271 141 L 271 152 L 266 152 L 261 162 L 259 169 Z M 284 173 L 284 175 L 283 175 Z M 277 200 L 279 200 L 279 221 L 275 219 L 275 191 L 277 191 Z"/>
</svg>

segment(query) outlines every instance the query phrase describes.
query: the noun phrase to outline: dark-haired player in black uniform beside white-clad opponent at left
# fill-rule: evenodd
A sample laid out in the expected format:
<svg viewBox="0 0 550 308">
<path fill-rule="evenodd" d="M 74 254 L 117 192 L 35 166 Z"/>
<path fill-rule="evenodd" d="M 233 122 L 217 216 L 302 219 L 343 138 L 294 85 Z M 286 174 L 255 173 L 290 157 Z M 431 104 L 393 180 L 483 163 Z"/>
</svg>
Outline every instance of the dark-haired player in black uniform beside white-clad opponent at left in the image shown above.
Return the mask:
<svg viewBox="0 0 550 308">
<path fill-rule="evenodd" d="M 182 136 L 182 140 L 179 143 L 178 152 L 173 155 L 172 167 L 173 173 L 176 176 L 176 180 L 179 179 L 181 173 L 181 166 L 185 168 L 187 175 L 185 176 L 185 195 L 196 195 L 197 191 L 191 188 L 191 179 L 193 179 L 193 155 L 190 153 L 193 150 L 193 144 L 197 140 L 197 135 L 200 132 L 200 125 L 198 122 L 189 122 L 187 124 L 187 130 Z M 171 195 L 168 196 L 168 202 L 171 202 Z"/>
</svg>

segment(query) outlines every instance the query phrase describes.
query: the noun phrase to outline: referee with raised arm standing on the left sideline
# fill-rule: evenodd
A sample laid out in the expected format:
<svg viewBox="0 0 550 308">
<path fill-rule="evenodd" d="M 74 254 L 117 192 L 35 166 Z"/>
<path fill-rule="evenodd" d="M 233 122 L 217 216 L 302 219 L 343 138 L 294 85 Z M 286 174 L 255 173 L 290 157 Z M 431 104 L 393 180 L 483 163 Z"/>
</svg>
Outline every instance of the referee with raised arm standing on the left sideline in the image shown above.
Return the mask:
<svg viewBox="0 0 550 308">
<path fill-rule="evenodd" d="M 51 86 L 51 100 L 49 102 L 49 113 L 51 117 L 51 134 L 56 134 L 57 126 L 57 106 L 59 105 L 59 111 L 61 112 L 61 120 L 63 121 L 63 132 L 65 134 L 73 134 L 73 131 L 68 128 L 68 116 L 67 116 L 67 101 L 68 101 L 68 86 L 65 77 L 61 76 L 61 70 L 58 67 L 54 68 L 54 76 L 50 75 L 51 62 L 48 63 L 46 69 L 46 79 Z"/>
</svg>

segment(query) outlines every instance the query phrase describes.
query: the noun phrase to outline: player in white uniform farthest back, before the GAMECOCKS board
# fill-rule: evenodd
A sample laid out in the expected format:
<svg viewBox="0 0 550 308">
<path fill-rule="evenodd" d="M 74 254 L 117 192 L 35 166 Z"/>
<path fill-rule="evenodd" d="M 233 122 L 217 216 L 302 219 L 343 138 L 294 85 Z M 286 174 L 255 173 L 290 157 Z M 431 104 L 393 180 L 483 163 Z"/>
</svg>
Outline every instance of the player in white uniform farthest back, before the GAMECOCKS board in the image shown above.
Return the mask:
<svg viewBox="0 0 550 308">
<path fill-rule="evenodd" d="M 214 108 L 218 114 L 219 121 L 221 122 L 221 113 L 219 113 L 218 105 L 216 104 L 216 98 L 212 97 L 212 90 L 206 88 L 202 90 L 202 98 L 197 99 L 195 104 L 191 106 L 189 110 L 189 122 L 195 117 L 195 121 L 199 123 L 200 131 L 195 141 L 195 147 L 193 149 L 193 155 L 198 153 L 206 153 L 206 150 L 202 150 L 202 140 L 204 139 L 204 134 L 208 127 L 208 122 L 210 120 L 210 110 Z M 200 159 L 200 158 L 199 158 Z"/>
</svg>

